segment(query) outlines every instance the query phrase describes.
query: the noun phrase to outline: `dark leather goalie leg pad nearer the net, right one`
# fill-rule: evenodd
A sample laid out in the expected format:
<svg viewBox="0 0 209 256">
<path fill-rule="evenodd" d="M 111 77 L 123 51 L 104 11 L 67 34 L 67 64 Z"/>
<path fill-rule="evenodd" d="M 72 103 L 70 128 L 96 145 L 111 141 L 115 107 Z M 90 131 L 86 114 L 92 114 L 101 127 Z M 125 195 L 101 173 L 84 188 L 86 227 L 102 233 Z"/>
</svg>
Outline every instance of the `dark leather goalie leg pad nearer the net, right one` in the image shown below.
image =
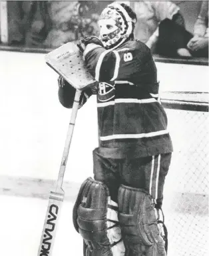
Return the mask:
<svg viewBox="0 0 209 256">
<path fill-rule="evenodd" d="M 118 210 L 127 256 L 166 256 L 149 193 L 144 189 L 121 185 L 118 191 Z"/>
</svg>

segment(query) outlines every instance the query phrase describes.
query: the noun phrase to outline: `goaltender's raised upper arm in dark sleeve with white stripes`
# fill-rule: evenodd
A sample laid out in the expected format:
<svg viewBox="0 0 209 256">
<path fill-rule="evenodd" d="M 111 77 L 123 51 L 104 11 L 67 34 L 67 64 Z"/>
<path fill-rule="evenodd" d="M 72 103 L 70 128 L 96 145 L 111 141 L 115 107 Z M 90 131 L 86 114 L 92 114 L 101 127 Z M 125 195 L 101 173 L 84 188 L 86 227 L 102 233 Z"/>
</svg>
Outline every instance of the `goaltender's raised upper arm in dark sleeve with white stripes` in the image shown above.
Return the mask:
<svg viewBox="0 0 209 256">
<path fill-rule="evenodd" d="M 139 41 L 129 41 L 120 49 L 106 50 L 90 43 L 83 56 L 87 69 L 99 82 L 144 82 L 144 74 L 153 80 L 153 58 L 150 49 Z M 147 75 L 148 74 L 148 75 Z"/>
</svg>

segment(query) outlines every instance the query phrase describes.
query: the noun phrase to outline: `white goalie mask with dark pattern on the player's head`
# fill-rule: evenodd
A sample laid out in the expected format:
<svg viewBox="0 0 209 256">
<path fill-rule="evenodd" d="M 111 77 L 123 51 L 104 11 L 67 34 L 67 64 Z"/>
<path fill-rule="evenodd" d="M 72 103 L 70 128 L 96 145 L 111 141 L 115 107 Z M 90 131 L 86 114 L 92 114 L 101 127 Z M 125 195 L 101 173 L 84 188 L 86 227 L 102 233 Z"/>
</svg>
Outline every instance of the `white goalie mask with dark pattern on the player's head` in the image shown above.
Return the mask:
<svg viewBox="0 0 209 256">
<path fill-rule="evenodd" d="M 118 47 L 133 33 L 136 16 L 132 19 L 125 9 L 128 6 L 123 6 L 119 3 L 111 3 L 101 13 L 100 39 L 106 49 Z"/>
</svg>

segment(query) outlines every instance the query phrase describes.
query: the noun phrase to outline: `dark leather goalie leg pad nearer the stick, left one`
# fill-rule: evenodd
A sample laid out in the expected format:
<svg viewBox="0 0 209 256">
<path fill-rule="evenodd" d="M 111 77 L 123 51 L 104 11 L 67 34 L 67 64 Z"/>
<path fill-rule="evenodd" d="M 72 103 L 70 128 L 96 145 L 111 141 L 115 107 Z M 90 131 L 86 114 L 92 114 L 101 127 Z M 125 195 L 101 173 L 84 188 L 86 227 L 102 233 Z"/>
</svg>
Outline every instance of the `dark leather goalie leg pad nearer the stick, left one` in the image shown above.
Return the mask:
<svg viewBox="0 0 209 256">
<path fill-rule="evenodd" d="M 104 183 L 89 177 L 81 185 L 73 208 L 73 223 L 85 240 L 84 255 L 124 255 L 118 205 L 111 201 Z"/>
</svg>

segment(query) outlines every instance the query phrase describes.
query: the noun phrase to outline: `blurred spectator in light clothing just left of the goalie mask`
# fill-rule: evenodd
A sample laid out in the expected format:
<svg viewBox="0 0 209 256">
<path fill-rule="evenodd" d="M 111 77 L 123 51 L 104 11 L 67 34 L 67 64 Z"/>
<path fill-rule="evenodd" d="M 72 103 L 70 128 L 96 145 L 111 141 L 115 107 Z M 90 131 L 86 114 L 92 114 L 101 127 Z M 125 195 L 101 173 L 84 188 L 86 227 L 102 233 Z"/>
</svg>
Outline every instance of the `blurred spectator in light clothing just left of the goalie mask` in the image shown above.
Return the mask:
<svg viewBox="0 0 209 256">
<path fill-rule="evenodd" d="M 44 45 L 59 47 L 84 36 L 98 35 L 97 1 L 48 1 L 52 29 Z"/>
</svg>

